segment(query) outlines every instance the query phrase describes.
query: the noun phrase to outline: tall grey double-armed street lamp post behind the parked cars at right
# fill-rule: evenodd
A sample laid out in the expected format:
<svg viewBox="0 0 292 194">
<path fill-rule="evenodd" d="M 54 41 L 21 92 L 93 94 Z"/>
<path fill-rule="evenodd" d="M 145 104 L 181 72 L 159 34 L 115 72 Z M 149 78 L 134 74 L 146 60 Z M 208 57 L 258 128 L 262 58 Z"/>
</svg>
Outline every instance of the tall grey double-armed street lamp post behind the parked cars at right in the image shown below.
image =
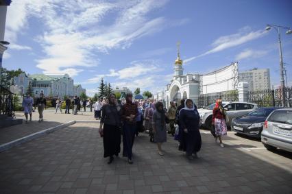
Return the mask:
<svg viewBox="0 0 292 194">
<path fill-rule="evenodd" d="M 282 43 L 281 43 L 281 34 L 280 29 L 287 29 L 286 34 L 292 34 L 290 27 L 285 27 L 281 25 L 267 24 L 266 30 L 270 30 L 271 27 L 276 29 L 278 32 L 278 44 L 279 44 L 279 56 L 280 56 L 280 83 L 281 83 L 281 93 L 282 93 L 282 107 L 286 104 L 286 93 L 285 93 L 285 81 L 284 81 L 284 66 L 283 66 L 283 57 L 282 57 Z"/>
</svg>

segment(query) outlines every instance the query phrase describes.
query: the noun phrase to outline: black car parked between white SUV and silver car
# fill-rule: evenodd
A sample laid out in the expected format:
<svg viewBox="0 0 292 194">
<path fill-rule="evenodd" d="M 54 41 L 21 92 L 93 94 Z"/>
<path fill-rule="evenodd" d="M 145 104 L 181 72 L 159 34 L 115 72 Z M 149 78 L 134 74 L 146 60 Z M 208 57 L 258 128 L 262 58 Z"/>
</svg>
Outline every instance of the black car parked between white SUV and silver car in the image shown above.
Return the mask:
<svg viewBox="0 0 292 194">
<path fill-rule="evenodd" d="M 231 130 L 239 134 L 260 138 L 267 117 L 277 107 L 258 108 L 244 116 L 232 120 Z"/>
</svg>

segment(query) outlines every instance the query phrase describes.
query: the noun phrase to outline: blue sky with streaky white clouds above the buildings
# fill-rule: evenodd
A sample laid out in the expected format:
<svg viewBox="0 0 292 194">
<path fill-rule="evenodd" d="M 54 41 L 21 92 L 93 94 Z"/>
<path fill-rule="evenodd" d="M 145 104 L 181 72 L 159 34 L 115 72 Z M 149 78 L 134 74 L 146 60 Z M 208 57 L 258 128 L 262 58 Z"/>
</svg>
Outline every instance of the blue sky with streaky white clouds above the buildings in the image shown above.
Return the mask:
<svg viewBox="0 0 292 194">
<path fill-rule="evenodd" d="M 29 74 L 68 73 L 87 94 L 101 77 L 116 86 L 157 93 L 173 76 L 178 41 L 184 73 L 208 73 L 231 62 L 239 71 L 269 68 L 280 84 L 278 35 L 292 27 L 285 0 L 15 0 L 8 7 L 3 67 Z M 292 34 L 281 29 L 292 85 Z"/>
</svg>

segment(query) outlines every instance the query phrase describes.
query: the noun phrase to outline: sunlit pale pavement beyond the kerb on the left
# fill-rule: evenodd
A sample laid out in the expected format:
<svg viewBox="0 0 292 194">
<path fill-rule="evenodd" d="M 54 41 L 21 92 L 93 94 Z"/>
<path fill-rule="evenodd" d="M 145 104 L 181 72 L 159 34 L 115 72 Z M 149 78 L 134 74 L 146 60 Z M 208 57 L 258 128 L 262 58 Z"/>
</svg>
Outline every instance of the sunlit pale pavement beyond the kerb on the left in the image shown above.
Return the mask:
<svg viewBox="0 0 292 194">
<path fill-rule="evenodd" d="M 82 112 L 83 114 L 78 115 L 64 114 L 64 110 L 61 114 L 59 111 L 60 110 L 58 110 L 58 113 L 55 114 L 55 110 L 53 109 L 45 110 L 44 121 L 39 123 L 38 112 L 36 110 L 36 112 L 32 112 L 32 122 L 25 123 L 25 120 L 23 120 L 22 125 L 14 125 L 9 128 L 0 129 L 0 145 L 72 120 L 95 120 L 93 117 L 93 112 L 90 111 Z M 23 112 L 16 112 L 16 118 L 25 119 L 25 116 Z"/>
</svg>

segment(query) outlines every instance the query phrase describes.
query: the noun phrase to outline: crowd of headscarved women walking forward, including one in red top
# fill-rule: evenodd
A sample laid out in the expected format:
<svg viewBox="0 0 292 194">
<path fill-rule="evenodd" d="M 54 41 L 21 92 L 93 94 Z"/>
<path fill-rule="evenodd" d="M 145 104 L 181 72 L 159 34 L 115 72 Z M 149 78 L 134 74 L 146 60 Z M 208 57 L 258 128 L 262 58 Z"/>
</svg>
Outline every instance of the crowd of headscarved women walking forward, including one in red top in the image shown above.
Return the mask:
<svg viewBox="0 0 292 194">
<path fill-rule="evenodd" d="M 212 124 L 215 127 L 216 137 L 223 147 L 222 136 L 227 134 L 226 112 L 221 106 L 221 99 L 216 101 L 213 110 Z M 104 158 L 109 157 L 108 164 L 119 156 L 121 151 L 121 134 L 123 136 L 123 156 L 127 162 L 133 163 L 132 147 L 135 134 L 140 128 L 149 130 L 150 141 L 157 144 L 158 154 L 163 156 L 162 143 L 167 141 L 167 124 L 170 125 L 170 134 L 175 134 L 179 141 L 179 150 L 185 151 L 190 160 L 197 158 L 201 149 L 202 138 L 199 132 L 199 112 L 192 99 L 182 99 L 181 105 L 165 108 L 158 101 L 134 101 L 131 94 L 127 94 L 125 103 L 118 101 L 114 94 L 109 101 L 97 102 L 101 110 L 99 134 L 104 139 Z M 100 114 L 100 113 L 99 113 Z M 144 119 L 144 122 L 143 122 Z M 178 130 L 175 132 L 175 126 Z"/>
</svg>

